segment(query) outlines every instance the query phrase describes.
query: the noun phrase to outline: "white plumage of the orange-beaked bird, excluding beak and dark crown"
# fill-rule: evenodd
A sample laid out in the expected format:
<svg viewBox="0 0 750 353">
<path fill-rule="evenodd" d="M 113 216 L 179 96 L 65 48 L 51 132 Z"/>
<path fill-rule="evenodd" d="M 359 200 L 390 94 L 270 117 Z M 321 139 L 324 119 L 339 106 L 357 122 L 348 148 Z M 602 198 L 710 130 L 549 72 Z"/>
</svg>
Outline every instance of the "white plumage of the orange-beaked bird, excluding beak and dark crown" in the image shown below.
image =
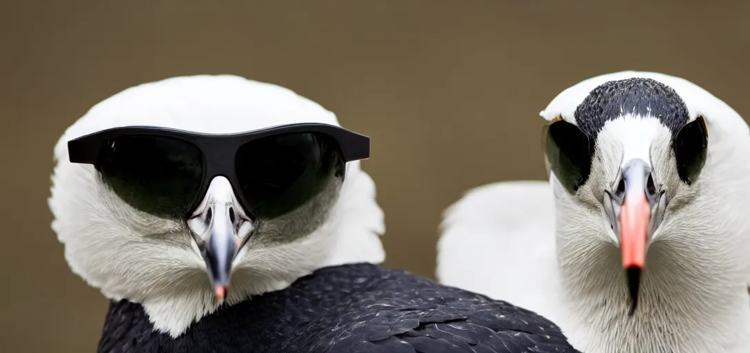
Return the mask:
<svg viewBox="0 0 750 353">
<path fill-rule="evenodd" d="M 748 352 L 750 134 L 742 118 L 685 79 L 633 71 L 586 79 L 562 91 L 541 116 L 575 124 L 573 112 L 589 91 L 631 77 L 669 85 L 691 121 L 706 118 L 708 157 L 700 178 L 691 187 L 680 183 L 669 131 L 625 112 L 599 133 L 598 157 L 576 196 L 552 174 L 551 187 L 490 184 L 452 205 L 437 276 L 547 316 L 583 352 Z M 670 193 L 632 318 L 619 250 L 596 195 L 613 180 L 624 150 L 649 152 L 657 182 Z"/>
</svg>

